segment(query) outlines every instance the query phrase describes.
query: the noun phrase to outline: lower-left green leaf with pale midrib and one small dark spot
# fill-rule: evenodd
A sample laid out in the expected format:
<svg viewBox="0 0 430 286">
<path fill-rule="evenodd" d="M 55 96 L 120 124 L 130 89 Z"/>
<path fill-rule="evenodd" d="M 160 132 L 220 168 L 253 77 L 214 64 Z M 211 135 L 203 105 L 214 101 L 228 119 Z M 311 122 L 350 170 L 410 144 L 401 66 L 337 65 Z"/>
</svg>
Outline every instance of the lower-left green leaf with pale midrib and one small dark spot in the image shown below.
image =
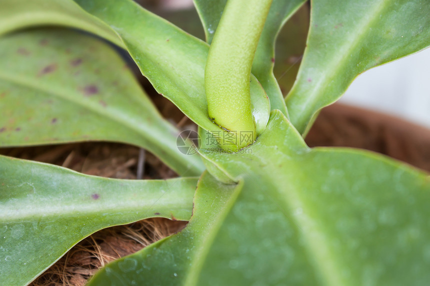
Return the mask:
<svg viewBox="0 0 430 286">
<path fill-rule="evenodd" d="M 196 178 L 117 180 L 0 156 L 0 285 L 22 286 L 93 232 L 188 220 Z"/>
</svg>

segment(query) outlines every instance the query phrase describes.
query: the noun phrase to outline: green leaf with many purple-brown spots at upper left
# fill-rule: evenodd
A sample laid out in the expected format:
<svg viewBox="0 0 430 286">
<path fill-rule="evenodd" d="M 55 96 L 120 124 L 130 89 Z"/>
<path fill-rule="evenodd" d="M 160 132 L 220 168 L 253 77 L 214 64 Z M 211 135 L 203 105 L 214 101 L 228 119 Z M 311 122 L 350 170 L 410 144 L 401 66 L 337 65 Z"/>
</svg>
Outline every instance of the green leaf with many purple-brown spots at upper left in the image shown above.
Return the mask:
<svg viewBox="0 0 430 286">
<path fill-rule="evenodd" d="M 148 149 L 179 174 L 204 170 L 197 156 L 178 151 L 177 129 L 104 42 L 29 30 L 0 38 L 0 58 L 0 146 L 119 141 Z"/>
</svg>

